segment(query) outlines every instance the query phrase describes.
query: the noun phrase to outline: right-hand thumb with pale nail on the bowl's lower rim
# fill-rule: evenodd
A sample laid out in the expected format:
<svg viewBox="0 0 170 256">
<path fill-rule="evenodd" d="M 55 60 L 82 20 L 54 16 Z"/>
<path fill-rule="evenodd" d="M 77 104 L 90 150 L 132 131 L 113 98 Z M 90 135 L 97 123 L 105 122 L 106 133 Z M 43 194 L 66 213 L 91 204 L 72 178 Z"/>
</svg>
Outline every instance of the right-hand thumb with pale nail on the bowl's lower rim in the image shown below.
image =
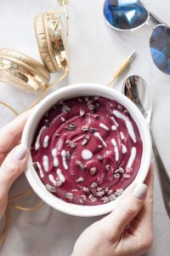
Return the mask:
<svg viewBox="0 0 170 256">
<path fill-rule="evenodd" d="M 144 183 L 130 186 L 122 195 L 116 209 L 108 216 L 101 219 L 105 231 L 110 236 L 121 236 L 131 220 L 138 215 L 147 194 Z M 103 223 L 105 222 L 105 224 Z"/>
</svg>

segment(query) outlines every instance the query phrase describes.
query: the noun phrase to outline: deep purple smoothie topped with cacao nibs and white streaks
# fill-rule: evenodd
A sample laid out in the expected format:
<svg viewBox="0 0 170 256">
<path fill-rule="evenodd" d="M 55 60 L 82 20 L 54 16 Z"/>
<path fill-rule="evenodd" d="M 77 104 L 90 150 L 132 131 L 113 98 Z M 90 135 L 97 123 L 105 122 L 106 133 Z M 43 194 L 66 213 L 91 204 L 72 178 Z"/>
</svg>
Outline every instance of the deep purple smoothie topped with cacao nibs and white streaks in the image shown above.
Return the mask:
<svg viewBox="0 0 170 256">
<path fill-rule="evenodd" d="M 127 109 L 99 96 L 58 102 L 42 117 L 31 144 L 46 189 L 79 205 L 114 201 L 139 172 L 142 153 Z"/>
</svg>

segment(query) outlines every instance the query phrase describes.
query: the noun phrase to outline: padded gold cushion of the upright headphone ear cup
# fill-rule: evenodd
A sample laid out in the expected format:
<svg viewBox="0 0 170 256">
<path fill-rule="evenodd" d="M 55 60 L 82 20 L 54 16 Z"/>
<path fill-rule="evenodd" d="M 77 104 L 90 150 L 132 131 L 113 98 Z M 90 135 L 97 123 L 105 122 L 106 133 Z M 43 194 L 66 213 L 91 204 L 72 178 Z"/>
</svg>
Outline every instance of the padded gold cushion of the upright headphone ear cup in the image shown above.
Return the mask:
<svg viewBox="0 0 170 256">
<path fill-rule="evenodd" d="M 58 72 L 59 68 L 54 57 L 54 49 L 48 31 L 46 13 L 37 15 L 34 21 L 34 27 L 37 38 L 37 45 L 43 64 L 48 68 L 49 73 Z"/>
</svg>

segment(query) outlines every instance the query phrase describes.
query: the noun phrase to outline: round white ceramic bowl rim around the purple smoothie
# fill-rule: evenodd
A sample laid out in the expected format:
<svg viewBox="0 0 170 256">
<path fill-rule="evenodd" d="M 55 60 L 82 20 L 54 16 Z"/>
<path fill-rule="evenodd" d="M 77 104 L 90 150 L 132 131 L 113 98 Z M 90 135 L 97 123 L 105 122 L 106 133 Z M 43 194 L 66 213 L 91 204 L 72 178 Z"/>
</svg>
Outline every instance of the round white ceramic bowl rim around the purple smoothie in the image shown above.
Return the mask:
<svg viewBox="0 0 170 256">
<path fill-rule="evenodd" d="M 65 100 L 77 96 L 104 96 L 120 102 L 125 108 L 127 108 L 129 113 L 131 113 L 131 116 L 139 127 L 140 137 L 143 141 L 141 165 L 133 183 L 143 183 L 150 167 L 151 141 L 149 128 L 144 121 L 143 115 L 139 112 L 139 109 L 135 107 L 133 102 L 127 99 L 126 96 L 123 96 L 120 92 L 101 84 L 72 84 L 65 88 L 56 90 L 49 96 L 45 97 L 31 112 L 23 132 L 22 143 L 25 143 L 27 148 L 31 148 L 32 138 L 34 137 L 37 125 L 39 124 L 40 119 L 42 119 L 43 114 L 46 113 L 49 108 L 53 107 L 54 103 L 58 102 L 60 99 Z M 26 177 L 28 182 L 31 184 L 32 189 L 34 189 L 37 195 L 39 195 L 39 197 L 41 197 L 49 206 L 54 207 L 60 212 L 65 212 L 75 216 L 90 217 L 111 212 L 116 207 L 117 201 L 120 198 L 119 197 L 115 201 L 99 206 L 80 206 L 61 201 L 45 189 L 45 186 L 32 166 L 31 154 L 26 170 Z"/>
</svg>

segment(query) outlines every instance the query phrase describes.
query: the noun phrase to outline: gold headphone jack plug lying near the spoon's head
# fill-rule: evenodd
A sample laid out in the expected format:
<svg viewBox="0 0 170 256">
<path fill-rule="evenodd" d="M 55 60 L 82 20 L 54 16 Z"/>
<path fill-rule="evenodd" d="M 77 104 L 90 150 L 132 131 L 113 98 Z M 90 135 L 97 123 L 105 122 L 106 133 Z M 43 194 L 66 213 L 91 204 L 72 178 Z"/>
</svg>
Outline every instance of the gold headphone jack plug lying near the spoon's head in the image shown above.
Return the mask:
<svg viewBox="0 0 170 256">
<path fill-rule="evenodd" d="M 127 69 L 127 67 L 129 67 L 129 65 L 133 61 L 133 57 L 135 54 L 136 50 L 133 50 L 133 53 L 129 55 L 125 61 L 122 62 L 121 67 L 119 67 L 116 73 L 114 73 L 113 79 L 111 79 L 111 82 L 107 84 L 107 86 L 111 86 L 115 82 L 115 80 Z"/>
</svg>

